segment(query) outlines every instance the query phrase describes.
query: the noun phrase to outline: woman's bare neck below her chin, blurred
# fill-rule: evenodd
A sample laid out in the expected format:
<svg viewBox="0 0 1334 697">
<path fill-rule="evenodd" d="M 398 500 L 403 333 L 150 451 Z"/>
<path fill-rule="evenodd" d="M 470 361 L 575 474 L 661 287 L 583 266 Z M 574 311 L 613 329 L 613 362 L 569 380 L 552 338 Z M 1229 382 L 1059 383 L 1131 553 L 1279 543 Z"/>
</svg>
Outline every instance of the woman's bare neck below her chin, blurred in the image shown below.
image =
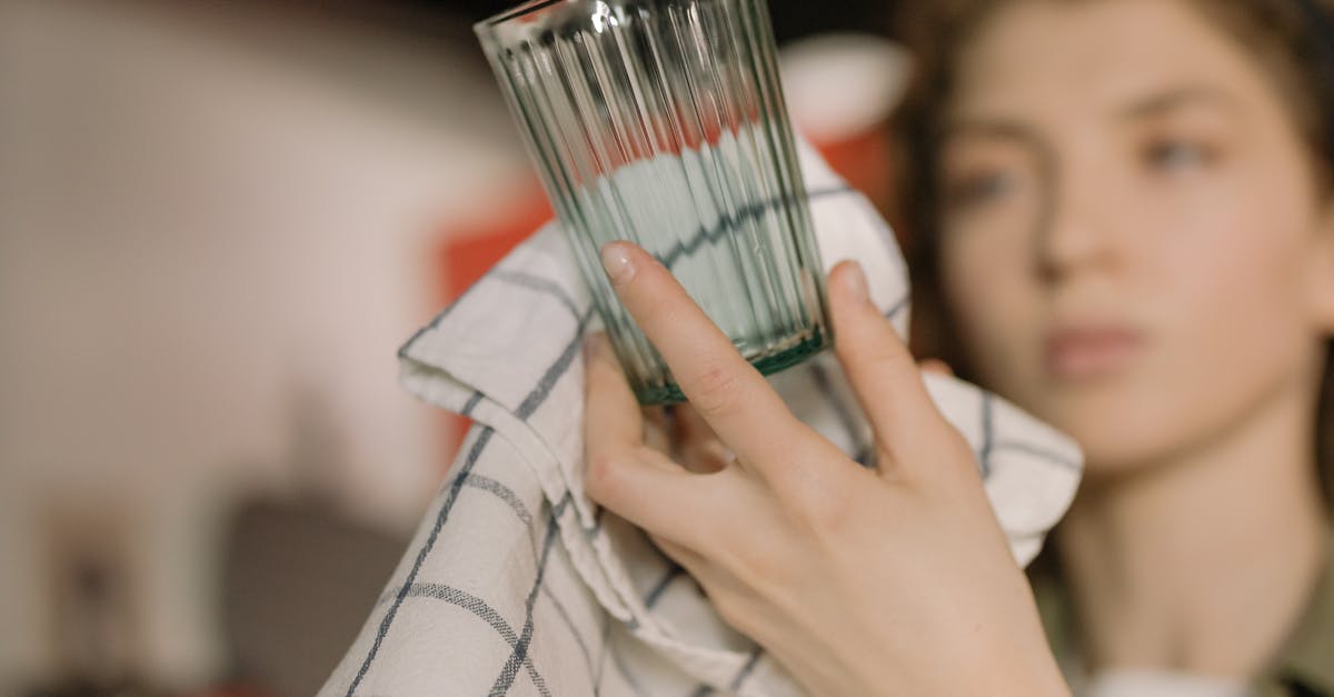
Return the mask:
<svg viewBox="0 0 1334 697">
<path fill-rule="evenodd" d="M 1273 660 L 1327 534 L 1301 397 L 1081 490 L 1058 545 L 1090 669 L 1246 678 Z"/>
</svg>

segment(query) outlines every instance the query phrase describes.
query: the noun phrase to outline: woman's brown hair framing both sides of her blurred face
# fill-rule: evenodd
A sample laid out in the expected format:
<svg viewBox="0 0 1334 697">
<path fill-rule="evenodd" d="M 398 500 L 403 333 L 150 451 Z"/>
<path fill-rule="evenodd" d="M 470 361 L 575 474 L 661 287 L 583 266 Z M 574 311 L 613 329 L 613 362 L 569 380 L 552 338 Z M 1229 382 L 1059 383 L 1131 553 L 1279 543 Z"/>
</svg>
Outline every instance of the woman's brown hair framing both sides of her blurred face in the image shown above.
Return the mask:
<svg viewBox="0 0 1334 697">
<path fill-rule="evenodd" d="M 1038 0 L 919 0 L 899 17 L 918 57 L 914 84 L 895 116 L 900 171 L 891 218 L 906 232 L 914 290 L 914 350 L 970 375 L 946 320 L 938 267 L 939 126 L 952 97 L 962 48 L 998 9 Z M 1081 1 L 1081 0 L 1041 0 Z M 1089 1 L 1089 0 L 1083 0 Z M 1306 139 L 1313 176 L 1334 196 L 1334 0 L 1181 0 L 1239 41 L 1270 72 Z M 1326 498 L 1334 501 L 1334 340 L 1326 342 L 1315 451 Z"/>
</svg>

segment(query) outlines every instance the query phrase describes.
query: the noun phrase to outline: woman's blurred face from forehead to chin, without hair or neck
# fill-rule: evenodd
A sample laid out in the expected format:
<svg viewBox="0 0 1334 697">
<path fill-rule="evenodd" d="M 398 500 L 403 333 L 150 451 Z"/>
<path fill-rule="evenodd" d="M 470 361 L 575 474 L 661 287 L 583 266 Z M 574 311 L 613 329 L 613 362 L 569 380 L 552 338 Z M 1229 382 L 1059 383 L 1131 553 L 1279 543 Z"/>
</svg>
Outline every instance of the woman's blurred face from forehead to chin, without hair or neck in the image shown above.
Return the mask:
<svg viewBox="0 0 1334 697">
<path fill-rule="evenodd" d="M 950 316 L 979 378 L 1093 473 L 1314 397 L 1334 226 L 1279 89 L 1190 4 L 1010 4 L 963 56 L 948 132 Z"/>
</svg>

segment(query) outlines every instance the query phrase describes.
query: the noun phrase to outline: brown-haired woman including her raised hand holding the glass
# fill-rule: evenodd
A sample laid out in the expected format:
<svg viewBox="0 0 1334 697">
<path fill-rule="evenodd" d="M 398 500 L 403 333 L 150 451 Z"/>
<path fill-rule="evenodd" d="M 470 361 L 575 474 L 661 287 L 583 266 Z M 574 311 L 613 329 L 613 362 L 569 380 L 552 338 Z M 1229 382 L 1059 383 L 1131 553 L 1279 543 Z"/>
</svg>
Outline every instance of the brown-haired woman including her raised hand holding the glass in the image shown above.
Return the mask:
<svg viewBox="0 0 1334 697">
<path fill-rule="evenodd" d="M 1317 447 L 1334 427 L 1318 418 L 1334 335 L 1334 8 L 912 9 L 927 49 L 904 115 L 918 184 L 904 211 L 919 308 L 948 320 L 924 334 L 1087 457 L 1053 543 L 1079 618 L 1051 630 L 1071 682 L 1334 690 Z M 1069 693 L 972 454 L 855 263 L 830 275 L 830 304 L 875 473 L 796 422 L 642 250 L 603 258 L 698 413 L 684 451 L 718 451 L 698 447 L 716 438 L 736 459 L 682 467 L 646 447 L 599 340 L 594 498 L 647 529 L 812 694 Z"/>
</svg>

